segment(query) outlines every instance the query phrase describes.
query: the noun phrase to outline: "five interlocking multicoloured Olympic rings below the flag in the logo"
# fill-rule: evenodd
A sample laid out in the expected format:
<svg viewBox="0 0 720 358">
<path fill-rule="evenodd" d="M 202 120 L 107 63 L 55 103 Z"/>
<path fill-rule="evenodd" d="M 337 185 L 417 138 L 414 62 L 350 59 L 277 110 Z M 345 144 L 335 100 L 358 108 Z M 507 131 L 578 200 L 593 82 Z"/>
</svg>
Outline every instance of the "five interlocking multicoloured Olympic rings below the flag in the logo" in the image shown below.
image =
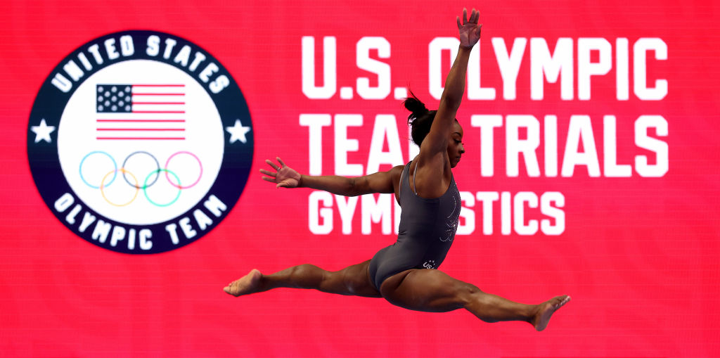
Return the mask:
<svg viewBox="0 0 720 358">
<path fill-rule="evenodd" d="M 102 177 L 102 181 L 100 182 L 99 186 L 90 184 L 83 174 L 83 165 L 85 164 L 86 159 L 94 154 L 103 154 L 104 156 L 107 156 L 112 161 L 112 166 L 113 166 L 113 169 L 111 171 L 108 171 L 107 174 L 105 174 Z M 156 164 L 156 169 L 150 171 L 150 173 L 148 173 L 148 175 L 145 176 L 145 180 L 143 181 L 142 186 L 140 186 L 140 184 L 138 183 L 138 179 L 135 177 L 135 174 L 132 174 L 132 172 L 130 172 L 127 169 L 127 166 L 129 165 L 128 162 L 130 161 L 130 157 L 138 155 L 138 154 L 145 154 L 145 155 L 150 156 L 150 158 L 152 158 Z M 178 156 L 179 154 L 188 154 L 189 156 L 192 156 L 193 158 L 195 158 L 195 160 L 197 161 L 197 164 L 199 166 L 199 175 L 198 175 L 197 179 L 192 184 L 189 184 L 186 186 L 181 185 L 180 176 L 178 174 L 176 174 L 174 171 L 171 171 L 170 169 L 168 169 L 168 165 L 170 164 L 171 159 L 174 158 L 175 156 Z M 189 188 L 192 188 L 195 185 L 197 185 L 200 182 L 200 179 L 202 179 L 202 174 L 203 174 L 202 161 L 200 161 L 200 158 L 198 158 L 197 155 L 195 155 L 194 153 L 191 153 L 189 151 L 178 151 L 176 153 L 173 153 L 171 156 L 168 157 L 167 161 L 165 162 L 164 168 L 161 168 L 160 163 L 158 162 L 158 159 L 155 156 L 153 156 L 152 154 L 148 153 L 147 151 L 135 151 L 135 152 L 130 153 L 130 155 L 128 155 L 125 158 L 125 160 L 122 161 L 122 166 L 120 168 L 117 167 L 117 162 L 109 153 L 104 152 L 104 151 L 91 151 L 90 153 L 87 153 L 86 156 L 84 156 L 82 158 L 82 160 L 80 161 L 80 166 L 79 166 L 78 170 L 80 172 L 80 179 L 88 187 L 91 187 L 93 189 L 99 189 L 100 194 L 102 195 L 103 199 L 106 202 L 108 202 L 110 205 L 113 205 L 116 207 L 124 207 L 124 206 L 130 205 L 130 203 L 135 201 L 135 199 L 138 197 L 138 192 L 140 192 L 140 189 L 143 189 L 143 193 L 145 194 L 145 199 L 147 199 L 148 202 L 150 202 L 150 204 L 153 204 L 157 207 L 166 207 L 166 206 L 172 205 L 172 204 L 174 204 L 174 202 L 176 202 L 179 199 L 182 190 L 189 189 Z M 115 181 L 115 179 L 117 178 L 118 171 L 122 172 L 122 177 L 123 177 L 123 179 L 125 179 L 125 182 L 128 185 L 130 185 L 130 187 L 135 189 L 135 194 L 133 194 L 132 199 L 130 199 L 127 202 L 123 202 L 123 203 L 117 203 L 117 202 L 110 201 L 107 198 L 107 196 L 105 195 L 105 190 L 104 190 L 105 188 L 109 187 L 109 185 Z M 156 182 L 158 182 L 161 171 L 165 172 L 165 177 L 168 180 L 168 182 L 173 187 L 176 187 L 178 189 L 178 193 L 175 195 L 174 199 L 171 200 L 170 202 L 167 202 L 164 204 L 153 201 L 152 199 L 150 199 L 150 195 L 148 194 L 148 187 L 151 187 L 151 186 L 153 186 L 153 184 L 156 184 Z M 110 179 L 109 182 L 107 182 L 107 184 L 106 184 L 105 182 L 107 181 L 110 174 L 113 174 L 112 179 Z M 175 180 L 171 179 L 170 174 L 172 174 L 172 176 L 174 176 Z M 127 178 L 128 175 L 130 175 L 132 177 L 132 182 L 135 182 L 135 184 L 132 184 L 132 182 L 130 182 L 130 179 Z M 153 175 L 155 176 L 155 178 L 150 180 L 150 177 Z"/>
</svg>

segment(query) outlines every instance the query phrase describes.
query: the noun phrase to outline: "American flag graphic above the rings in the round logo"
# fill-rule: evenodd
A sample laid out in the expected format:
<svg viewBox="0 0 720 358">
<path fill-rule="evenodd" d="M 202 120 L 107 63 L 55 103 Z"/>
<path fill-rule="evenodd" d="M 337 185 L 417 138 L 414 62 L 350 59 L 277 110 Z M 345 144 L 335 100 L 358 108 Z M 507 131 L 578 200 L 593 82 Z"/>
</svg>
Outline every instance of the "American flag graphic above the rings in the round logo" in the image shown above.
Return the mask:
<svg viewBox="0 0 720 358">
<path fill-rule="evenodd" d="M 184 140 L 184 84 L 98 84 L 98 140 Z"/>
</svg>

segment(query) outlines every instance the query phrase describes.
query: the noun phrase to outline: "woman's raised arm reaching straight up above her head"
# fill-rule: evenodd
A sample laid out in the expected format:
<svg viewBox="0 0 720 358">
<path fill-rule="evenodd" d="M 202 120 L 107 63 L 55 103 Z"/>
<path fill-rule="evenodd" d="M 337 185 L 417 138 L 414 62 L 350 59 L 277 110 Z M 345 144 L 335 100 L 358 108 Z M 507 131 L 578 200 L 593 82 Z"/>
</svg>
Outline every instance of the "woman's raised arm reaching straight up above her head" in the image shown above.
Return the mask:
<svg viewBox="0 0 720 358">
<path fill-rule="evenodd" d="M 470 51 L 477 41 L 480 40 L 480 28 L 482 24 L 477 24 L 477 20 L 480 18 L 480 12 L 472 9 L 470 18 L 467 19 L 467 9 L 463 9 L 462 17 L 462 24 L 460 23 L 460 17 L 457 17 L 460 48 L 455 62 L 450 69 L 450 73 L 448 73 L 447 79 L 445 80 L 445 89 L 443 90 L 442 97 L 440 97 L 438 112 L 433 120 L 430 133 L 428 133 L 426 139 L 423 140 L 423 146 L 420 148 L 420 151 L 424 152 L 427 156 L 446 151 L 450 130 L 465 91 L 465 76 Z M 427 144 L 426 141 L 428 142 Z"/>
</svg>

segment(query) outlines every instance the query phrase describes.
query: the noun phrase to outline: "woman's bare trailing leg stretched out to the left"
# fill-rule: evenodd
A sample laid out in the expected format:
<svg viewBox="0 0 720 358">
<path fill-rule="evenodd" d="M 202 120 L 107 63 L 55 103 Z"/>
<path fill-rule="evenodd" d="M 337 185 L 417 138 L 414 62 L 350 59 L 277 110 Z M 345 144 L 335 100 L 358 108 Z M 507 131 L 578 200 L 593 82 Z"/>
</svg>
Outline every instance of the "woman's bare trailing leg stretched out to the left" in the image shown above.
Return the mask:
<svg viewBox="0 0 720 358">
<path fill-rule="evenodd" d="M 370 260 L 367 260 L 336 272 L 325 271 L 312 264 L 302 264 L 269 275 L 253 269 L 223 290 L 235 297 L 279 287 L 305 288 L 338 295 L 382 297 L 370 283 L 369 264 Z"/>
</svg>

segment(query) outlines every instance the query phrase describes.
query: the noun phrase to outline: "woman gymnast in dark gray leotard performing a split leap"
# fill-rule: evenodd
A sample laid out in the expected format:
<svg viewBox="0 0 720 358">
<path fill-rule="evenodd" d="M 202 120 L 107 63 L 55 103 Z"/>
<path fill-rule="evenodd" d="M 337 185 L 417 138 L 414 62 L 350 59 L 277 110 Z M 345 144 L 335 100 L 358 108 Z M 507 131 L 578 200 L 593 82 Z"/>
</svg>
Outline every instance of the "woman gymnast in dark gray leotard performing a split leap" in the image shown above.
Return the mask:
<svg viewBox="0 0 720 358">
<path fill-rule="evenodd" d="M 557 296 L 539 305 L 525 305 L 490 295 L 467 282 L 450 277 L 438 266 L 453 242 L 460 215 L 460 193 L 452 175 L 465 152 L 462 127 L 455 114 L 465 89 L 467 61 L 480 40 L 477 19 L 472 10 L 462 24 L 457 18 L 460 48 L 448 74 L 436 111 L 428 111 L 414 95 L 405 100 L 412 112 L 413 141 L 420 154 L 405 166 L 395 166 L 357 178 L 307 176 L 290 169 L 280 158 L 278 164 L 266 161 L 275 171 L 261 169 L 263 179 L 277 187 L 309 187 L 333 194 L 356 196 L 394 193 L 402 207 L 397 241 L 375 254 L 371 260 L 338 272 L 328 272 L 311 264 L 290 267 L 274 274 L 253 269 L 224 288 L 233 296 L 248 295 L 278 287 L 315 289 L 340 295 L 383 297 L 393 305 L 423 312 L 447 312 L 464 308 L 485 322 L 526 321 L 542 331 L 552 314 L 570 296 Z"/>
</svg>

